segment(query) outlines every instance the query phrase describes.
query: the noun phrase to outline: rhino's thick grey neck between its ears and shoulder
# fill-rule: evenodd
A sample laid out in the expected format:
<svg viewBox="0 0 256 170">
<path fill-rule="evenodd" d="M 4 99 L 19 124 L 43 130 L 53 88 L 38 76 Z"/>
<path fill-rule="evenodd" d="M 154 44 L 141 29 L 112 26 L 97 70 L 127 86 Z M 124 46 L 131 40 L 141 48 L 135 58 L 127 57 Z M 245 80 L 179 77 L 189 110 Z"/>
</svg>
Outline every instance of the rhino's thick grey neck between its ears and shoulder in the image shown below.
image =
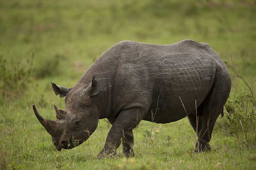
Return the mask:
<svg viewBox="0 0 256 170">
<path fill-rule="evenodd" d="M 100 90 L 97 95 L 100 110 L 100 119 L 112 116 L 113 91 L 115 87 L 116 70 L 119 58 L 123 54 L 122 50 L 116 50 L 118 45 L 114 45 L 105 51 L 83 74 L 79 82 L 90 84 L 93 76 L 99 81 Z M 119 51 L 116 53 L 116 51 Z"/>
</svg>

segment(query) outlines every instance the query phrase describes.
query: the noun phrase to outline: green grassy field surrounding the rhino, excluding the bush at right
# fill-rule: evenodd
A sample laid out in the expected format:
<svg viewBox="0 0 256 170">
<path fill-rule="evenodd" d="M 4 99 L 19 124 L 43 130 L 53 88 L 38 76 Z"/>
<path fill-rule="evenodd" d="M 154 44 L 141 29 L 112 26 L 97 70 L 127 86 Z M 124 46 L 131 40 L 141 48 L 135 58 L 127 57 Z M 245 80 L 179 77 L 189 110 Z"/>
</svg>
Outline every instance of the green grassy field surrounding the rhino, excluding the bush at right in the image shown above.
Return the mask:
<svg viewBox="0 0 256 170">
<path fill-rule="evenodd" d="M 1 0 L 0 169 L 256 169 L 255 144 L 248 147 L 228 133 L 225 116 L 215 126 L 210 152 L 192 154 L 196 134 L 188 119 L 143 121 L 134 130 L 135 157 L 124 158 L 120 147 L 116 159 L 99 160 L 111 127 L 107 120 L 84 144 L 58 152 L 32 111 L 35 103 L 41 115 L 55 119 L 53 105 L 65 104 L 50 82 L 72 87 L 121 40 L 207 42 L 226 61 L 232 56 L 239 74 L 256 88 L 255 30 L 255 0 Z M 230 102 L 235 89 L 245 89 L 236 77 Z"/>
</svg>

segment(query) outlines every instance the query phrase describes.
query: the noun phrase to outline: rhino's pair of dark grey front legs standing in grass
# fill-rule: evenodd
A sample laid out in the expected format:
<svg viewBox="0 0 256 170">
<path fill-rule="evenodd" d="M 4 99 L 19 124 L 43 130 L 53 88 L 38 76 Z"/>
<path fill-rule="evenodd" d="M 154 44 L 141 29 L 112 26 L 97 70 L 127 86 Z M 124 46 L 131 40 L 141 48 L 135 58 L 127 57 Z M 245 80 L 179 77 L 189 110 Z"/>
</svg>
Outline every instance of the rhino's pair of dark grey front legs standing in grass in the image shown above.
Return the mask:
<svg viewBox="0 0 256 170">
<path fill-rule="evenodd" d="M 140 123 L 142 118 L 147 112 L 145 109 L 131 108 L 122 110 L 116 117 L 111 129 L 108 132 L 108 136 L 104 145 L 104 148 L 99 153 L 99 158 L 115 157 L 116 149 L 122 142 L 124 136 L 126 140 L 124 144 L 125 155 L 132 152 L 131 147 L 133 144 L 133 133 L 132 130 Z"/>
</svg>

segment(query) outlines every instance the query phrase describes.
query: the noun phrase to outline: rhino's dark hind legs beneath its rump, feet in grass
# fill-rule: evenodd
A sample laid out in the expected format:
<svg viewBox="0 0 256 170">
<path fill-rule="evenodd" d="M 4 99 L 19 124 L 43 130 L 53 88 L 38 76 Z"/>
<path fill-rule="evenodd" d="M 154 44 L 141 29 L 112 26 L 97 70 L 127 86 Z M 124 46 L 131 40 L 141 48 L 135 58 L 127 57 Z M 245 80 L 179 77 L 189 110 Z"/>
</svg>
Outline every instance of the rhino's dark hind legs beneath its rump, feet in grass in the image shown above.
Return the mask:
<svg viewBox="0 0 256 170">
<path fill-rule="evenodd" d="M 209 142 L 212 137 L 212 130 L 215 122 L 220 115 L 224 104 L 230 93 L 231 80 L 229 74 L 224 74 L 221 71 L 216 72 L 215 81 L 212 85 L 206 99 L 201 103 L 198 110 L 201 112 L 198 125 L 198 140 L 195 144 L 193 152 L 201 152 L 211 150 Z M 192 127 L 195 130 L 195 115 L 189 115 L 189 120 L 192 122 Z"/>
</svg>

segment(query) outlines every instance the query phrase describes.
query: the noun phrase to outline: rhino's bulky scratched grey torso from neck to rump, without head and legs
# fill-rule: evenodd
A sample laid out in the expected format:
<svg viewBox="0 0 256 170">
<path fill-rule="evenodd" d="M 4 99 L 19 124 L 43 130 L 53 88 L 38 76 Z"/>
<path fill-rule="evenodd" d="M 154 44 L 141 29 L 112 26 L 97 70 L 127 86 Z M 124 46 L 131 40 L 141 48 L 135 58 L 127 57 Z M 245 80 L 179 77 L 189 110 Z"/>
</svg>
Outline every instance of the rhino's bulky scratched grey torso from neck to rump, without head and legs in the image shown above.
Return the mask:
<svg viewBox="0 0 256 170">
<path fill-rule="evenodd" d="M 186 116 L 180 99 L 188 113 L 195 110 L 195 100 L 198 106 L 203 102 L 214 82 L 216 63 L 224 65 L 205 43 L 123 41 L 102 54 L 83 77 L 96 75 L 102 91 L 108 91 L 105 100 L 113 114 L 121 109 L 149 108 L 146 120 L 157 110 L 154 121 L 165 123 Z"/>
</svg>

